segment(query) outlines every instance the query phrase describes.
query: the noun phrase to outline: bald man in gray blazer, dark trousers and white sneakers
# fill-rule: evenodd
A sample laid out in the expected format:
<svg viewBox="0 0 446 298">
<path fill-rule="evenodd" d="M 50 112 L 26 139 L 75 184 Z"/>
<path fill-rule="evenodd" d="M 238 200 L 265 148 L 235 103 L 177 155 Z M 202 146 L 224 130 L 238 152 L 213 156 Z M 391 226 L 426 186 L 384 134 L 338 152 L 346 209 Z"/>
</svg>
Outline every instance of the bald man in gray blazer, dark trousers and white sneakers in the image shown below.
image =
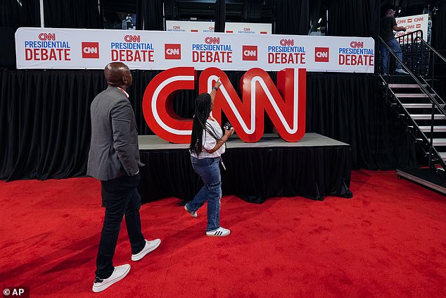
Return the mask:
<svg viewBox="0 0 446 298">
<path fill-rule="evenodd" d="M 120 62 L 109 63 L 105 70 L 108 88 L 91 103 L 91 147 L 87 175 L 101 180 L 103 204 L 106 207 L 101 242 L 96 259 L 93 292 L 101 292 L 130 271 L 130 265 L 113 266 L 113 255 L 125 215 L 132 246 L 132 261 L 139 261 L 156 249 L 161 240 L 148 241 L 141 232 L 139 208 L 141 197 L 138 132 L 127 88 L 132 73 Z"/>
</svg>

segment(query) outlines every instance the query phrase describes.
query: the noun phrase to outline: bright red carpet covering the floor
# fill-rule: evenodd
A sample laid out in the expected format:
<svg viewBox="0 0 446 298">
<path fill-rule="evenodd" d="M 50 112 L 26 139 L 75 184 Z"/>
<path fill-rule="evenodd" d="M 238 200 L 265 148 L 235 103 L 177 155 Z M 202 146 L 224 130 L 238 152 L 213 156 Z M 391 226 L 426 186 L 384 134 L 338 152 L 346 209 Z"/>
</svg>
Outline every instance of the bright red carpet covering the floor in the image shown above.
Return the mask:
<svg viewBox="0 0 446 298">
<path fill-rule="evenodd" d="M 93 294 L 103 220 L 93 179 L 0 182 L 0 286 L 31 297 L 445 297 L 446 197 L 355 171 L 355 197 L 223 197 L 226 238 L 205 236 L 178 199 L 141 209 L 144 234 L 162 243 L 130 261 L 125 225 L 115 264 L 127 278 Z"/>
</svg>

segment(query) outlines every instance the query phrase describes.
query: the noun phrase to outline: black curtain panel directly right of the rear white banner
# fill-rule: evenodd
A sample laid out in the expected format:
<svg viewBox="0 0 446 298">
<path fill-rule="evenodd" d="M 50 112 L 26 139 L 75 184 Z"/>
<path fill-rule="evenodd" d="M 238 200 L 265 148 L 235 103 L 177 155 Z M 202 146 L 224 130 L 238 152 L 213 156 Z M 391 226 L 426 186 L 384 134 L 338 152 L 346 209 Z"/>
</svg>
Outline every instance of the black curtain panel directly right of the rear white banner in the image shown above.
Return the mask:
<svg viewBox="0 0 446 298">
<path fill-rule="evenodd" d="M 274 6 L 275 34 L 308 35 L 308 0 L 279 0 Z"/>
</svg>

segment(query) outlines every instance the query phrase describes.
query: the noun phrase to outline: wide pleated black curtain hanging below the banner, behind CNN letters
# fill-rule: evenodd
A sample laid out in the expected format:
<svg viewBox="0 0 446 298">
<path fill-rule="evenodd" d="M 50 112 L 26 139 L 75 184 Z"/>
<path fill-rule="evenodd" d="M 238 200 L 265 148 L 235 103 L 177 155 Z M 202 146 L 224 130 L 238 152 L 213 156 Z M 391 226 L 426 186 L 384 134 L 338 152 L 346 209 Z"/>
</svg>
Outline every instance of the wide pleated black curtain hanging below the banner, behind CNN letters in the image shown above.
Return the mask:
<svg viewBox="0 0 446 298">
<path fill-rule="evenodd" d="M 129 89 L 140 135 L 152 134 L 141 102 L 158 71 L 133 71 Z M 199 73 L 198 73 L 199 75 Z M 243 72 L 227 73 L 236 90 Z M 270 73 L 276 80 L 275 73 Z M 352 167 L 388 170 L 423 163 L 404 126 L 385 104 L 372 75 L 307 74 L 307 132 L 352 146 Z M 0 75 L 0 178 L 84 175 L 90 141 L 89 106 L 106 88 L 101 70 L 3 70 Z M 196 90 L 178 92 L 174 111 L 193 115 Z M 265 132 L 272 125 L 265 122 Z"/>
</svg>

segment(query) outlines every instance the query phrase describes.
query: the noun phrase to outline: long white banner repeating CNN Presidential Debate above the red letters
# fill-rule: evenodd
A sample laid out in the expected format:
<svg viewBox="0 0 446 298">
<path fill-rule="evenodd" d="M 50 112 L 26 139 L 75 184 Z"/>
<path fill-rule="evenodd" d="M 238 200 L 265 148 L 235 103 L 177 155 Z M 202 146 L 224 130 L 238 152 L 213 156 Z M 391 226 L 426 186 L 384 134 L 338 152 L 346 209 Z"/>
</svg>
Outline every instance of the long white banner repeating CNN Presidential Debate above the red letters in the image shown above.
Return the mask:
<svg viewBox="0 0 446 298">
<path fill-rule="evenodd" d="M 17 68 L 103 69 L 110 61 L 120 61 L 131 69 L 147 70 L 212 66 L 373 73 L 374 47 L 370 37 L 54 28 L 15 32 Z"/>
</svg>

